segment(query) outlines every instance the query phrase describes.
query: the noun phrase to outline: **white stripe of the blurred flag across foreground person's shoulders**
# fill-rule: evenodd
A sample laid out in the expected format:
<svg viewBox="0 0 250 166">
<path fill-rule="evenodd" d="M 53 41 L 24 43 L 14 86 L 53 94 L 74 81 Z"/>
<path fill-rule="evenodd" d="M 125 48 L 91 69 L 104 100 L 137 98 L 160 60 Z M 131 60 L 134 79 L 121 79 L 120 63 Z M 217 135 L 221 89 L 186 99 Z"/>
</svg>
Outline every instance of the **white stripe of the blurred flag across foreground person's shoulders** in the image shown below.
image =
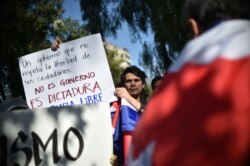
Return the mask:
<svg viewBox="0 0 250 166">
<path fill-rule="evenodd" d="M 250 21 L 246 20 L 222 22 L 190 41 L 169 72 L 180 70 L 186 63 L 208 64 L 217 58 L 236 60 L 249 56 L 249 27 Z"/>
</svg>

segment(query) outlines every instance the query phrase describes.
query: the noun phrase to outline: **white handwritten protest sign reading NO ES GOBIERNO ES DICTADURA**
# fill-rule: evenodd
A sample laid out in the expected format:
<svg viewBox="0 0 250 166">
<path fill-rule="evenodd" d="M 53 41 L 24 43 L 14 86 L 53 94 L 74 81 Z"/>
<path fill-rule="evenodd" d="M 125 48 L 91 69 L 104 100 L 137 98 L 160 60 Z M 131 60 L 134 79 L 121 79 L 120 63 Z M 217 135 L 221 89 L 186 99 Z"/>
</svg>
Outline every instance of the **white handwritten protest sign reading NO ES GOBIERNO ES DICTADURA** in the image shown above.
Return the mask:
<svg viewBox="0 0 250 166">
<path fill-rule="evenodd" d="M 31 109 L 114 101 L 114 83 L 100 34 L 19 58 Z"/>
</svg>

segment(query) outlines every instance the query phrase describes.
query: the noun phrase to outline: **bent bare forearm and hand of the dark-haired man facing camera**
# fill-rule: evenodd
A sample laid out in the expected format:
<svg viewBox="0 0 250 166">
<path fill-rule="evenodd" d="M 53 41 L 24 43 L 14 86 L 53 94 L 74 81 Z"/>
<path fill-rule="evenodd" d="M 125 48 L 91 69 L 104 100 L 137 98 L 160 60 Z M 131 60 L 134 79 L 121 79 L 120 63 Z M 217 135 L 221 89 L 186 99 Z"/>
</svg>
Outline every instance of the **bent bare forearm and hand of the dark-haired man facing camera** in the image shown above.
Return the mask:
<svg viewBox="0 0 250 166">
<path fill-rule="evenodd" d="M 115 95 L 119 98 L 125 98 L 131 105 L 135 107 L 137 111 L 141 111 L 141 103 L 133 98 L 126 88 L 116 88 Z"/>
</svg>

